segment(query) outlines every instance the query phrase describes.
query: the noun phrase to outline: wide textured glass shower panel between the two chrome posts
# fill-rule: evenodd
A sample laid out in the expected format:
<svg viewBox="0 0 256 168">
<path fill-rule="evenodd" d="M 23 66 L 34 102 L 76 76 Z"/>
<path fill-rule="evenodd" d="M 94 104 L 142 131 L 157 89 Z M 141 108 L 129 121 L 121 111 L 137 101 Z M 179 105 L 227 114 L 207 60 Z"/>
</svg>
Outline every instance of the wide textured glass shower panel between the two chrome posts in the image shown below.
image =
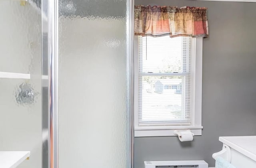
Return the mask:
<svg viewBox="0 0 256 168">
<path fill-rule="evenodd" d="M 59 167 L 126 168 L 126 0 L 59 10 Z"/>
</svg>

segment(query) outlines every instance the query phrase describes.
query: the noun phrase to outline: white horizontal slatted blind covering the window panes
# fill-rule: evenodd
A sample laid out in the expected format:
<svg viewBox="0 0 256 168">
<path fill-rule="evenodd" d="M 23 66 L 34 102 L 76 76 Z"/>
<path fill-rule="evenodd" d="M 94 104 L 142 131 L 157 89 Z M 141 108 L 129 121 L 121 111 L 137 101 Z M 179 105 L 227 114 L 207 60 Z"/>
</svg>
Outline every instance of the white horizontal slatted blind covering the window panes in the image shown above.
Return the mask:
<svg viewBox="0 0 256 168">
<path fill-rule="evenodd" d="M 138 37 L 138 124 L 190 125 L 190 37 Z"/>
</svg>

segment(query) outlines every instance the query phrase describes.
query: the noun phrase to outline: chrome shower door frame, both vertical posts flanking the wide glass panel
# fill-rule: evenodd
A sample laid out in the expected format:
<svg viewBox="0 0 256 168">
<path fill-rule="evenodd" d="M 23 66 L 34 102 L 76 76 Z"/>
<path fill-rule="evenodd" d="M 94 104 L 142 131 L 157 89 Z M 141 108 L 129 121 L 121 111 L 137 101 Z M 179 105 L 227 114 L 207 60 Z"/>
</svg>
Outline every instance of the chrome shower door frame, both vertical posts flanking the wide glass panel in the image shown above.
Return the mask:
<svg viewBox="0 0 256 168">
<path fill-rule="evenodd" d="M 58 168 L 58 0 L 41 0 L 42 168 Z M 126 3 L 128 168 L 134 168 L 134 0 Z"/>
</svg>

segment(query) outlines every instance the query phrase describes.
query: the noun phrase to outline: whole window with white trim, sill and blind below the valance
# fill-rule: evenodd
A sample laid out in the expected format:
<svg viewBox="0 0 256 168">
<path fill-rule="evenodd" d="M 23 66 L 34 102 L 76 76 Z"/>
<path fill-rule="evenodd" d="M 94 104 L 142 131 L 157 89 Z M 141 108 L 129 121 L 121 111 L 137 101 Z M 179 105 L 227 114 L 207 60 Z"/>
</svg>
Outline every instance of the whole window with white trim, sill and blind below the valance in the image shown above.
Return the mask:
<svg viewBox="0 0 256 168">
<path fill-rule="evenodd" d="M 202 38 L 136 36 L 134 44 L 135 136 L 200 135 Z"/>
</svg>

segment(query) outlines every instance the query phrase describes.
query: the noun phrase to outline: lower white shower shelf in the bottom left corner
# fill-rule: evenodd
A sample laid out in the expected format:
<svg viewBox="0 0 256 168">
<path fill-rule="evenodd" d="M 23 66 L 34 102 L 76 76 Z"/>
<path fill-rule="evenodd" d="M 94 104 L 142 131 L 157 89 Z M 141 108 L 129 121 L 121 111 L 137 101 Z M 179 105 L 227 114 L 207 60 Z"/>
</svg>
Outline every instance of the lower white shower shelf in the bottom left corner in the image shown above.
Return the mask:
<svg viewBox="0 0 256 168">
<path fill-rule="evenodd" d="M 0 151 L 0 168 L 16 168 L 29 156 L 30 151 Z"/>
</svg>

